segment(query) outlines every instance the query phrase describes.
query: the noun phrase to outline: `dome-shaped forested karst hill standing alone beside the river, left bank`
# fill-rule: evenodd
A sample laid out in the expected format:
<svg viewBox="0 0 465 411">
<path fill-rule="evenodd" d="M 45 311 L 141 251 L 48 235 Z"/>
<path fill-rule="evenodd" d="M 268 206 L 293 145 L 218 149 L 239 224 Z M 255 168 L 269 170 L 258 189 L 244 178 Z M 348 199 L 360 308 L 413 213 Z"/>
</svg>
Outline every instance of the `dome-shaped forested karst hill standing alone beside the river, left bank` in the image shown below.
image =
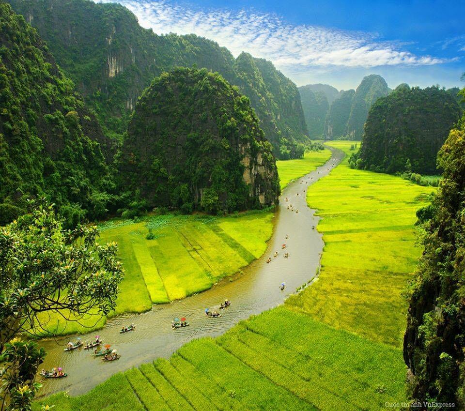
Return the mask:
<svg viewBox="0 0 465 411">
<path fill-rule="evenodd" d="M 247 97 L 179 68 L 142 94 L 123 142 L 122 186 L 150 207 L 243 210 L 277 203 L 278 173 Z"/>
</svg>

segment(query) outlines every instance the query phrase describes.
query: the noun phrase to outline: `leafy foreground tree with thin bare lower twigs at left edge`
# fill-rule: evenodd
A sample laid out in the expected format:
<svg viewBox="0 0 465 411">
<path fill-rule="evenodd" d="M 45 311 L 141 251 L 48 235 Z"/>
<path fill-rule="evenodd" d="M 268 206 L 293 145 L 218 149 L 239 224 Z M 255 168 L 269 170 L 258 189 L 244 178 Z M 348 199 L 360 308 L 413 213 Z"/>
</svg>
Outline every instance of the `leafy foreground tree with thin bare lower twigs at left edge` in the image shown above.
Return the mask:
<svg viewBox="0 0 465 411">
<path fill-rule="evenodd" d="M 63 230 L 53 206 L 0 228 L 0 410 L 30 410 L 45 351 L 21 336 L 47 324 L 47 314 L 79 321 L 115 308 L 123 268 L 116 243 L 96 243 L 95 226 Z M 49 316 L 48 316 L 49 317 Z"/>
</svg>

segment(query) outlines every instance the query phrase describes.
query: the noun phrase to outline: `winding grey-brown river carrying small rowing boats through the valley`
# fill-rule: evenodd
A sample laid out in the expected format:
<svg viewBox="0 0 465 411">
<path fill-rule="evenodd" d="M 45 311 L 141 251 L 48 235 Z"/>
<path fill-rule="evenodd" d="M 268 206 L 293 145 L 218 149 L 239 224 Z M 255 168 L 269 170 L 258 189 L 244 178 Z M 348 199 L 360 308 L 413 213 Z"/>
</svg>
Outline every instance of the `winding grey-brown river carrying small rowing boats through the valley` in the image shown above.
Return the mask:
<svg viewBox="0 0 465 411">
<path fill-rule="evenodd" d="M 64 352 L 66 343 L 77 336 L 41 340 L 39 345 L 47 350 L 47 357 L 40 368 L 61 366 L 68 377 L 42 381 L 40 396 L 59 391 L 67 391 L 73 396 L 83 394 L 118 371 L 153 361 L 157 357 L 169 358 L 194 338 L 221 335 L 240 320 L 282 304 L 298 287 L 308 283 L 320 267 L 323 240 L 316 230 L 319 218 L 314 215 L 315 210 L 307 207 L 304 190 L 341 162 L 343 153 L 334 149 L 331 151 L 332 156 L 325 165 L 283 190 L 267 250 L 262 258 L 243 269 L 244 274 L 237 274 L 233 281 L 226 278 L 212 289 L 184 300 L 154 305 L 146 313 L 118 316 L 109 320 L 100 331 L 79 335 L 84 342 L 92 341 L 96 334 L 100 335 L 104 344 L 111 344 L 121 354 L 118 361 L 104 362 L 102 357 L 93 357 L 93 350 L 82 347 Z M 287 208 L 291 204 L 294 211 Z M 286 235 L 289 238 L 286 239 Z M 285 249 L 281 248 L 282 244 L 286 244 Z M 276 258 L 273 257 L 275 251 L 278 251 Z M 284 258 L 285 252 L 289 253 L 287 259 Z M 268 257 L 271 257 L 270 263 L 266 262 Z M 281 291 L 279 285 L 282 281 L 286 287 Z M 232 304 L 220 311 L 218 306 L 225 299 L 231 300 Z M 206 307 L 217 309 L 222 317 L 206 317 Z M 190 326 L 172 330 L 173 318 L 183 316 Z M 120 334 L 121 328 L 132 322 L 136 324 L 136 330 Z"/>
</svg>

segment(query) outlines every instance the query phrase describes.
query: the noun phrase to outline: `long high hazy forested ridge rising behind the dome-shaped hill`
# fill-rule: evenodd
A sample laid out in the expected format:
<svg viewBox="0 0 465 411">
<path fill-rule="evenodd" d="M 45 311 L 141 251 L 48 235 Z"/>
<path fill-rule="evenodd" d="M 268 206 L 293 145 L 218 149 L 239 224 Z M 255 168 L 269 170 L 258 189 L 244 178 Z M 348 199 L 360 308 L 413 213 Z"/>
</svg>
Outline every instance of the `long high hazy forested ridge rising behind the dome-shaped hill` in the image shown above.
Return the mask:
<svg viewBox="0 0 465 411">
<path fill-rule="evenodd" d="M 281 158 L 302 153 L 308 137 L 295 84 L 267 61 L 241 55 L 195 35 L 156 35 L 118 4 L 88 0 L 11 0 L 47 41 L 62 69 L 108 132 L 121 134 L 154 76 L 177 66 L 206 67 L 238 85 Z M 244 61 L 247 60 L 247 61 Z"/>
</svg>

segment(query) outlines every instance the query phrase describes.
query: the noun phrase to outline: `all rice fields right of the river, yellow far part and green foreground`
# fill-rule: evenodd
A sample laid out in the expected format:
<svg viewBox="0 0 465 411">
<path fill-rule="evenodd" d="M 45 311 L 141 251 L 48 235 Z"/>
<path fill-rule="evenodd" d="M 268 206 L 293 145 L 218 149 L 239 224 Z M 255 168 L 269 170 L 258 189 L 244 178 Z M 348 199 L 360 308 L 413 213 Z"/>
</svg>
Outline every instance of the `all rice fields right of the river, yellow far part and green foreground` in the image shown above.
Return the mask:
<svg viewBox="0 0 465 411">
<path fill-rule="evenodd" d="M 350 153 L 347 142 L 331 145 Z M 322 216 L 318 281 L 226 334 L 118 373 L 60 411 L 382 410 L 405 398 L 402 290 L 420 249 L 415 211 L 431 187 L 352 170 L 347 157 L 308 189 Z"/>
</svg>

